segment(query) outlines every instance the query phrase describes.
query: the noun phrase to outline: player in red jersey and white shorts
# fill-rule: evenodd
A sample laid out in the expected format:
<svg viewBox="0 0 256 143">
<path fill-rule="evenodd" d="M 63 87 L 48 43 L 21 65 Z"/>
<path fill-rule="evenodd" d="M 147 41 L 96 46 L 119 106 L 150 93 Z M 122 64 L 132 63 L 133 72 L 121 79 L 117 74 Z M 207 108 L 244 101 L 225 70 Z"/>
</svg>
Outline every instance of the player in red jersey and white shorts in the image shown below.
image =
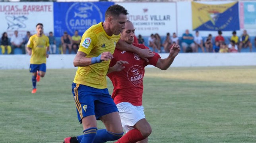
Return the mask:
<svg viewBox="0 0 256 143">
<path fill-rule="evenodd" d="M 120 40 L 141 49 L 147 49 L 143 44 L 133 43 L 134 31 L 132 22 L 127 21 L 125 29 L 121 32 Z M 167 58 L 161 59 L 159 54 L 155 53 L 153 57 L 148 58 L 149 62 L 147 62 L 136 53 L 115 49 L 107 76 L 109 76 L 114 86 L 112 98 L 118 108 L 122 126 L 127 132 L 115 143 L 136 143 L 138 141 L 139 143 L 147 143 L 151 126 L 145 119 L 142 106 L 144 68 L 150 64 L 166 70 L 171 66 L 179 51 L 180 46 L 174 44 Z M 114 65 L 117 61 L 127 61 L 128 64 L 123 65 L 124 69 L 122 71 L 116 72 Z"/>
</svg>

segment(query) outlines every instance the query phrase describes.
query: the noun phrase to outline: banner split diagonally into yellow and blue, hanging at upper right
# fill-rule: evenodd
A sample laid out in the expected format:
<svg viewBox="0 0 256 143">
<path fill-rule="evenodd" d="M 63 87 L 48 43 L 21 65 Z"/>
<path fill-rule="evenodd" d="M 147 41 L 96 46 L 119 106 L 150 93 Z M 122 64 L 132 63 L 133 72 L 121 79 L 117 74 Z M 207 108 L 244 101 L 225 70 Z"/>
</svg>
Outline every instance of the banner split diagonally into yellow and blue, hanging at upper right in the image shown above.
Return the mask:
<svg viewBox="0 0 256 143">
<path fill-rule="evenodd" d="M 193 30 L 240 30 L 238 2 L 228 4 L 201 4 L 192 2 Z"/>
</svg>

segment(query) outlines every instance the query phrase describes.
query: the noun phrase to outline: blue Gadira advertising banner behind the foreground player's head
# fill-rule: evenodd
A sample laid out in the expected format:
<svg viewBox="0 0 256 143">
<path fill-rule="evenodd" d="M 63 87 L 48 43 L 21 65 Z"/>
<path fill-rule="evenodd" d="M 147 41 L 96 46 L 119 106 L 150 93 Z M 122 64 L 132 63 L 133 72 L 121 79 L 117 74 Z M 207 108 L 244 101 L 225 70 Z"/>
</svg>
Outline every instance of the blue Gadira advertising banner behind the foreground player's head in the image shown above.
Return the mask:
<svg viewBox="0 0 256 143">
<path fill-rule="evenodd" d="M 113 2 L 54 2 L 54 34 L 57 37 L 64 31 L 79 35 L 92 25 L 103 22 L 105 11 Z"/>
</svg>

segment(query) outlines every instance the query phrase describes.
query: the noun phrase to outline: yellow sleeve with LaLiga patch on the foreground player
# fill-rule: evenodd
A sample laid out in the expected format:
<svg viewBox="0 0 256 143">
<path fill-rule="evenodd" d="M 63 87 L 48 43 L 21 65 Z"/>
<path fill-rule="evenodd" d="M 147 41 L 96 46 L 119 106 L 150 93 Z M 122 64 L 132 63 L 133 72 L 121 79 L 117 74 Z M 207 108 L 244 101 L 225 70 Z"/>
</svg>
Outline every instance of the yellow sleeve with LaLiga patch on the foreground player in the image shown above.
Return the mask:
<svg viewBox="0 0 256 143">
<path fill-rule="evenodd" d="M 91 50 L 97 44 L 97 36 L 93 32 L 85 32 L 81 38 L 81 44 L 78 51 L 86 53 L 89 55 Z"/>
</svg>

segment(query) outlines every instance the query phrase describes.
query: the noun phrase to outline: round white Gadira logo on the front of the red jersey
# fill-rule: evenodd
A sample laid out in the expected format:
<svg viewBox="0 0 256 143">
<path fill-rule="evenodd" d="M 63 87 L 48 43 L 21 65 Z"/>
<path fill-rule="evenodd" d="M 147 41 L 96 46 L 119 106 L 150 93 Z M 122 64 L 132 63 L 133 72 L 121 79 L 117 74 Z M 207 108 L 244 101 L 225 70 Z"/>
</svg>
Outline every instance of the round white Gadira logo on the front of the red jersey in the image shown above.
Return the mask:
<svg viewBox="0 0 256 143">
<path fill-rule="evenodd" d="M 134 65 L 127 72 L 127 77 L 134 86 L 140 86 L 143 81 L 142 67 Z"/>
</svg>

